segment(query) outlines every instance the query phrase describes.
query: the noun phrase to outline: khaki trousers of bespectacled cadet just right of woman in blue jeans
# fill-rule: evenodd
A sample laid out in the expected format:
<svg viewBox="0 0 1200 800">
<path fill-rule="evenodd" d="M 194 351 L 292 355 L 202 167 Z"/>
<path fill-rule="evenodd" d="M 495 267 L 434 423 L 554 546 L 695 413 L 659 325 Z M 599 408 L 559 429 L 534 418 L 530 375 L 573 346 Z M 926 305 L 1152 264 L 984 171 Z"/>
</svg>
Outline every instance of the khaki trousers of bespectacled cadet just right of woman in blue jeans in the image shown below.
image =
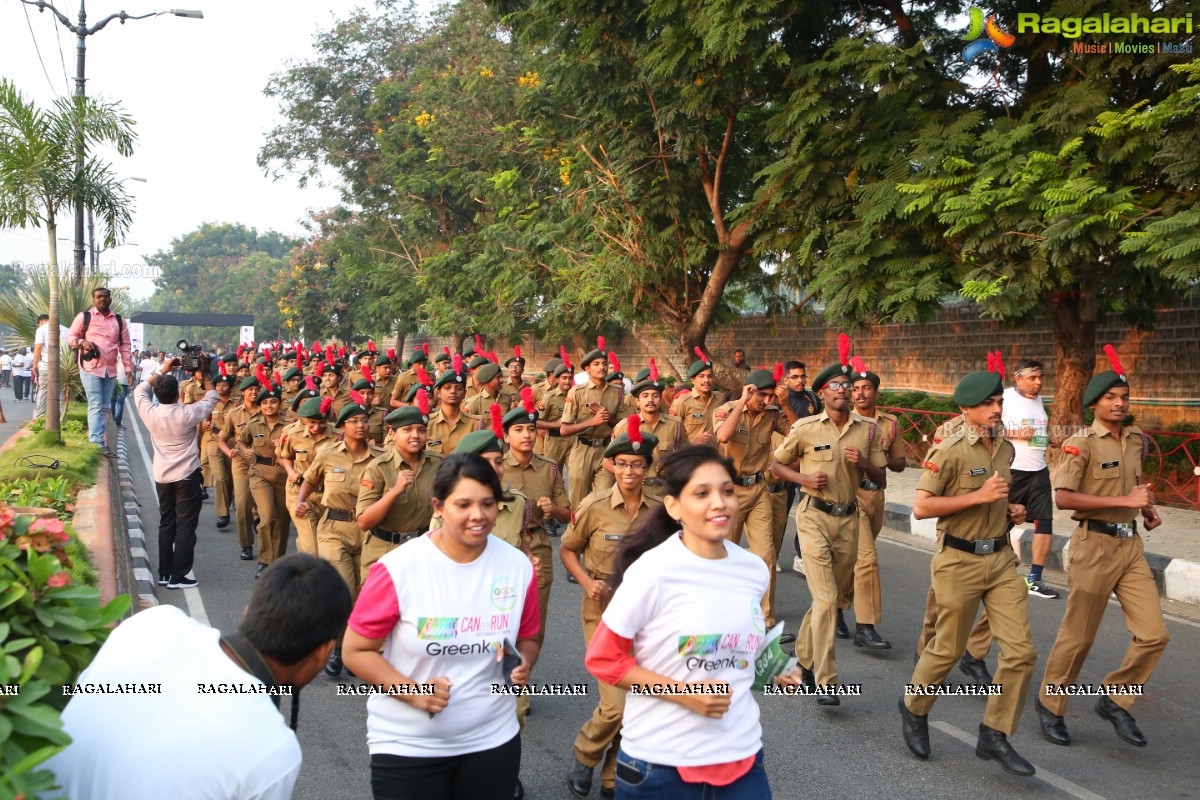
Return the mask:
<svg viewBox="0 0 1200 800">
<path fill-rule="evenodd" d="M 809 506 L 805 495 L 796 507 L 796 536 L 804 559 L 812 604 L 796 637 L 796 658 L 812 669 L 818 685 L 838 682 L 834 651 L 838 627 L 838 599 L 854 578 L 858 552 L 858 517 L 834 517 Z"/>
</svg>

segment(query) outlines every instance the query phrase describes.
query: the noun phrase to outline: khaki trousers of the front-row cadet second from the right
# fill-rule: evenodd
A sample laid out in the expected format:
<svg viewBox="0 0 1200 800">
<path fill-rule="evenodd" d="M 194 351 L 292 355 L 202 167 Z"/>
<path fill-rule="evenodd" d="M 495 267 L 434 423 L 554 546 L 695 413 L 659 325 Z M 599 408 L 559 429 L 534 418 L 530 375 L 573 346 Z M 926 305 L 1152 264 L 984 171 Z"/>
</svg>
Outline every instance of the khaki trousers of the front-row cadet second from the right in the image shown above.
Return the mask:
<svg viewBox="0 0 1200 800">
<path fill-rule="evenodd" d="M 934 594 L 937 597 L 937 628 L 934 639 L 920 654 L 912 682 L 941 684 L 962 657 L 967 633 L 983 602 L 991 628 L 1000 642 L 994 685 L 1001 693 L 988 698 L 983 723 L 1006 735 L 1013 735 L 1021 721 L 1025 698 L 1033 676 L 1033 634 L 1030 632 L 1028 588 L 1016 572 L 1016 555 L 1008 547 L 976 555 L 938 543 L 930 566 Z M 936 696 L 905 697 L 905 705 L 918 715 L 928 715 Z"/>
</svg>

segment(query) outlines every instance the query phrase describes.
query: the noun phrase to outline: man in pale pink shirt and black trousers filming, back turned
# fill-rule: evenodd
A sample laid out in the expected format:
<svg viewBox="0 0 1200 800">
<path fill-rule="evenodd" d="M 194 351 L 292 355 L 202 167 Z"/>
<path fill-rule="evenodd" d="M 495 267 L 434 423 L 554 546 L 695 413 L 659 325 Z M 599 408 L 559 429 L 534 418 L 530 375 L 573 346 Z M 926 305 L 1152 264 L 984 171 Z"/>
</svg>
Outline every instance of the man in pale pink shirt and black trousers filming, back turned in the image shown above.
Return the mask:
<svg viewBox="0 0 1200 800">
<path fill-rule="evenodd" d="M 196 523 L 200 518 L 200 447 L 196 426 L 212 413 L 220 399 L 204 369 L 204 398 L 190 405 L 180 404 L 179 381 L 163 374 L 178 363 L 178 359 L 170 359 L 161 372 L 152 373 L 133 390 L 133 405 L 154 443 L 154 480 L 158 489 L 158 585 L 168 589 L 186 589 L 198 583 L 194 577 L 187 577 L 196 549 Z M 151 391 L 157 405 L 150 398 Z"/>
</svg>

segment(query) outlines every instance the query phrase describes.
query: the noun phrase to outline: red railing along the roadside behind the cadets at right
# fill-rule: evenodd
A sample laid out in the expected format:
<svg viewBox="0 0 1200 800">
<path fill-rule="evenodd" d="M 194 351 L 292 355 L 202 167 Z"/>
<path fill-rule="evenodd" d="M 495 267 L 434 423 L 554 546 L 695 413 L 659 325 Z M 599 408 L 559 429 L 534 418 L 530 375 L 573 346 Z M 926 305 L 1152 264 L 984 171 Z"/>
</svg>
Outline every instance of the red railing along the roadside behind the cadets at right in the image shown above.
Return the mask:
<svg viewBox="0 0 1200 800">
<path fill-rule="evenodd" d="M 884 408 L 900 421 L 899 433 L 910 464 L 920 464 L 934 444 L 934 431 L 950 417 L 947 411 L 925 411 L 912 408 Z M 1154 497 L 1162 505 L 1200 511 L 1200 433 L 1153 431 L 1142 428 L 1150 437 L 1150 451 L 1142 462 L 1146 479 L 1154 486 Z"/>
</svg>

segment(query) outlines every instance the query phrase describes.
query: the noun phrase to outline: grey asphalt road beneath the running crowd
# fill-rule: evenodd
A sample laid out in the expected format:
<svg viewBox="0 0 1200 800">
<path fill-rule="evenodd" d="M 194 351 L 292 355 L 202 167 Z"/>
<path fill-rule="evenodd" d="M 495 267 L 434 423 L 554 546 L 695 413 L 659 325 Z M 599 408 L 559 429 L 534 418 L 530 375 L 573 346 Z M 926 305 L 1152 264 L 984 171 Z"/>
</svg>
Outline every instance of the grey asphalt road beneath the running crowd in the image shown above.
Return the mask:
<svg viewBox="0 0 1200 800">
<path fill-rule="evenodd" d="M 131 413 L 126 419 L 134 419 Z M 149 449 L 145 429 L 140 429 Z M 146 527 L 154 529 L 157 510 L 148 465 L 142 462 L 137 439 L 130 457 L 134 486 Z M 254 577 L 254 561 L 238 560 L 232 528 L 215 527 L 212 504 L 200 516 L 197 546 L 197 589 L 158 589 L 163 603 L 206 615 L 220 628 L 233 628 L 245 607 Z M 792 536 L 791 527 L 788 536 Z M 151 563 L 157 563 L 151 541 Z M 1028 700 L 1014 747 L 1038 769 L 1032 778 L 1004 772 L 995 762 L 974 756 L 974 739 L 985 700 L 943 697 L 930 714 L 934 756 L 929 762 L 912 757 L 900 735 L 896 698 L 912 674 L 912 654 L 929 587 L 928 551 L 881 539 L 884 619 L 880 632 L 893 649 L 869 654 L 850 643 L 838 643 L 839 672 L 845 684 L 862 684 L 863 696 L 844 698 L 836 709 L 816 705 L 815 698 L 758 698 L 762 709 L 767 771 L 775 798 L 847 798 L 886 795 L 889 800 L 913 798 L 1194 798 L 1200 796 L 1200 682 L 1195 662 L 1200 656 L 1200 625 L 1177 614 L 1196 618 L 1195 607 L 1170 603 L 1168 630 L 1171 642 L 1147 685 L 1147 696 L 1134 708 L 1145 748 L 1118 740 L 1112 727 L 1092 712 L 1093 703 L 1076 698 L 1067 711 L 1074 738 L 1070 747 L 1045 741 L 1037 726 L 1033 698 Z M 289 552 L 294 548 L 289 546 Z M 557 540 L 556 540 L 557 548 Z M 785 542 L 785 571 L 779 576 L 778 615 L 793 631 L 809 606 L 802 577 L 787 567 L 792 549 Z M 1063 576 L 1051 573 L 1062 584 Z M 580 588 L 568 583 L 556 561 L 551 594 L 547 645 L 534 670 L 539 682 L 589 682 L 583 669 L 580 627 Z M 1042 680 L 1063 613 L 1063 600 L 1030 599 L 1030 614 L 1039 660 L 1034 684 Z M 851 620 L 852 621 L 852 620 Z M 1110 603 L 1080 682 L 1099 682 L 1116 667 L 1129 640 L 1120 607 Z M 995 669 L 995 648 L 989 664 Z M 954 682 L 953 675 L 949 682 Z M 366 699 L 337 696 L 337 684 L 319 675 L 301 694 L 300 744 L 304 768 L 295 798 L 317 800 L 368 799 L 370 769 L 366 748 Z M 572 798 L 564 772 L 571 759 L 571 742 L 595 704 L 589 697 L 536 698 L 523 735 L 521 775 L 527 796 L 545 800 Z M 599 795 L 599 774 L 593 798 Z"/>
</svg>

